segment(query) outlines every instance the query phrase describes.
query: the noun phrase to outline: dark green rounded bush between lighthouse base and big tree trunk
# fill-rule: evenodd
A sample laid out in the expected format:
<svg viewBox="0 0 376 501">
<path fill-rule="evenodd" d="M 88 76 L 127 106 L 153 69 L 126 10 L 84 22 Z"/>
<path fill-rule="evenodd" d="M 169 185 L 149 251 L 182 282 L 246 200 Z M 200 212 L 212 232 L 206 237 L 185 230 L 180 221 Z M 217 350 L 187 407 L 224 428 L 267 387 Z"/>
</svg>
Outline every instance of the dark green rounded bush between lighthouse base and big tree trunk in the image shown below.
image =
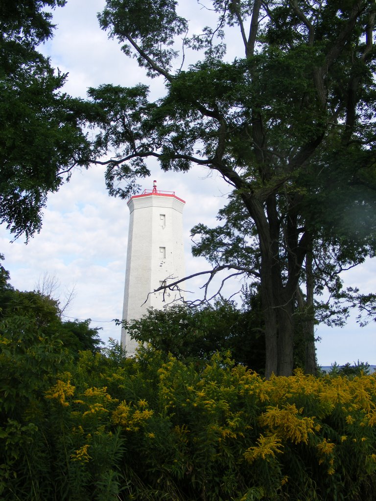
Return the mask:
<svg viewBox="0 0 376 501">
<path fill-rule="evenodd" d="M 265 368 L 265 340 L 260 308 L 239 310 L 233 304 L 217 302 L 199 308 L 175 305 L 150 309 L 140 320 L 124 325 L 133 339 L 149 343 L 167 358 L 172 354 L 199 368 L 220 352 L 231 352 L 237 364 L 262 374 Z"/>
</svg>

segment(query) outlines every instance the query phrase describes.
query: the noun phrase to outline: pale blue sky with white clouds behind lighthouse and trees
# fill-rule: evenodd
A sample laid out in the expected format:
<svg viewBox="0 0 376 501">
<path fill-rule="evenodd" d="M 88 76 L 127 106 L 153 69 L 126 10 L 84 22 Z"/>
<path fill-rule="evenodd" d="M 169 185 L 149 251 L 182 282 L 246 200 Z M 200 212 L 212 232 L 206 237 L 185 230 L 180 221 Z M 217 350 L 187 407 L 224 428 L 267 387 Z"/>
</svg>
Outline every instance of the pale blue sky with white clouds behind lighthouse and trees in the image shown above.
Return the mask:
<svg viewBox="0 0 376 501">
<path fill-rule="evenodd" d="M 104 0 L 68 0 L 54 13 L 55 37 L 41 51 L 51 58 L 55 68 L 69 74 L 64 90 L 84 98 L 88 87 L 143 82 L 151 85 L 151 97 L 159 97 L 162 82 L 148 80 L 135 60 L 128 59 L 118 43 L 100 30 L 96 14 L 104 4 Z M 181 12 L 199 29 L 204 20 L 200 10 L 199 16 L 194 13 L 193 4 L 192 0 L 182 4 Z M 208 270 L 210 266 L 204 259 L 192 257 L 190 229 L 199 222 L 216 224 L 229 186 L 220 176 L 208 176 L 199 167 L 188 173 L 163 173 L 152 161 L 149 168 L 151 175 L 141 181 L 142 189 L 151 189 L 156 179 L 158 189 L 175 191 L 186 202 L 183 232 L 187 275 Z M 106 192 L 104 168 L 77 169 L 69 183 L 49 195 L 41 232 L 28 244 L 22 237 L 11 243 L 5 225 L 0 226 L 0 252 L 5 255 L 4 266 L 10 271 L 11 284 L 19 290 L 34 290 L 45 274 L 55 276 L 60 283 L 56 295 L 60 294 L 63 303 L 67 292 L 74 290 L 66 319 L 90 318 L 93 327 L 102 329 L 104 342 L 110 337 L 120 341 L 120 328 L 112 320 L 120 318 L 122 312 L 128 220 L 126 201 Z M 345 286 L 375 292 L 376 261 L 368 260 L 344 272 L 342 278 Z M 199 280 L 193 280 L 186 286 L 193 292 L 191 298 L 200 294 L 200 285 Z M 239 288 L 239 284 L 230 285 L 228 294 Z M 344 364 L 360 360 L 376 364 L 375 330 L 375 322 L 361 329 L 355 315 L 342 329 L 319 326 L 318 363 L 327 366 L 335 361 Z"/>
</svg>

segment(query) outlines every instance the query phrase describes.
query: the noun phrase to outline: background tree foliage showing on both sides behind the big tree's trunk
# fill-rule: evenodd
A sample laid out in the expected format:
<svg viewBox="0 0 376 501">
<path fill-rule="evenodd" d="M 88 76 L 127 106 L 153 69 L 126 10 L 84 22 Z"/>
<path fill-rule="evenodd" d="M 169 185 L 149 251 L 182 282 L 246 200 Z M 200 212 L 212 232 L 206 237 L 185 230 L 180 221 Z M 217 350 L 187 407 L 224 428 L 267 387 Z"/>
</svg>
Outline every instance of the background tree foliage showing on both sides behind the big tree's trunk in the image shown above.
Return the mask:
<svg viewBox="0 0 376 501">
<path fill-rule="evenodd" d="M 191 231 L 194 256 L 205 257 L 214 270 L 226 268 L 228 263 L 233 263 L 238 274 L 260 268 L 257 232 L 246 211 L 237 211 L 239 206 L 238 200 L 234 198 L 220 210 L 218 227 L 208 228 L 198 224 Z M 294 351 L 299 352 L 294 354 L 294 365 L 298 364 L 309 374 L 316 374 L 317 370 L 315 325 L 325 323 L 343 326 L 351 307 L 361 309 L 363 303 L 371 311 L 372 300 L 374 302 L 374 295 L 359 296 L 353 294 L 350 288 L 343 290 L 339 274 L 344 269 L 345 260 L 338 259 L 338 252 L 344 250 L 343 245 L 335 248 L 328 240 L 324 245 L 319 234 L 313 240 L 313 245 L 312 250 L 307 252 L 299 276 L 293 319 Z M 357 256 L 358 262 L 362 259 L 363 256 Z M 347 266 L 352 267 L 354 264 L 347 263 Z M 319 299 L 324 290 L 330 295 L 330 301 Z"/>
</svg>

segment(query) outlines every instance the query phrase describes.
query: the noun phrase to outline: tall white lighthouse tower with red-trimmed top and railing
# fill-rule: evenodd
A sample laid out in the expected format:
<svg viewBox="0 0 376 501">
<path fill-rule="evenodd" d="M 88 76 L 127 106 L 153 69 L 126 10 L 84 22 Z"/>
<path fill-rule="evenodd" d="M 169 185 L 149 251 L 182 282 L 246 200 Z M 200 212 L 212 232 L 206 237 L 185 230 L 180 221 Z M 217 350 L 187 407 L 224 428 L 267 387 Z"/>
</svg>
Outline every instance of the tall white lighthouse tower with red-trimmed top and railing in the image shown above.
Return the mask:
<svg viewBox="0 0 376 501">
<path fill-rule="evenodd" d="M 152 291 L 185 275 L 182 231 L 184 200 L 173 191 L 152 190 L 132 196 L 125 271 L 123 320 L 138 320 L 148 308 L 162 309 L 178 300 L 179 293 Z M 121 344 L 131 357 L 137 341 L 123 328 Z"/>
</svg>

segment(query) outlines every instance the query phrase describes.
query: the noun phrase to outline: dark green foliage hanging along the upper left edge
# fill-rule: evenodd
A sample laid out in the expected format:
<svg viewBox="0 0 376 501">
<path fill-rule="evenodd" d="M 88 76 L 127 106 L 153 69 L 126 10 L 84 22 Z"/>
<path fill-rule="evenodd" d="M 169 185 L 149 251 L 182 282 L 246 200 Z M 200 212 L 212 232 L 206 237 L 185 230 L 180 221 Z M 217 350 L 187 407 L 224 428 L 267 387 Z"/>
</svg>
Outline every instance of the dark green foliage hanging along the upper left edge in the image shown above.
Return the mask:
<svg viewBox="0 0 376 501">
<path fill-rule="evenodd" d="M 91 108 L 60 89 L 37 46 L 52 37 L 44 8 L 65 0 L 15 0 L 0 6 L 0 222 L 28 240 L 42 224 L 47 194 L 59 189 L 74 166 L 89 165 L 82 127 Z"/>
</svg>

